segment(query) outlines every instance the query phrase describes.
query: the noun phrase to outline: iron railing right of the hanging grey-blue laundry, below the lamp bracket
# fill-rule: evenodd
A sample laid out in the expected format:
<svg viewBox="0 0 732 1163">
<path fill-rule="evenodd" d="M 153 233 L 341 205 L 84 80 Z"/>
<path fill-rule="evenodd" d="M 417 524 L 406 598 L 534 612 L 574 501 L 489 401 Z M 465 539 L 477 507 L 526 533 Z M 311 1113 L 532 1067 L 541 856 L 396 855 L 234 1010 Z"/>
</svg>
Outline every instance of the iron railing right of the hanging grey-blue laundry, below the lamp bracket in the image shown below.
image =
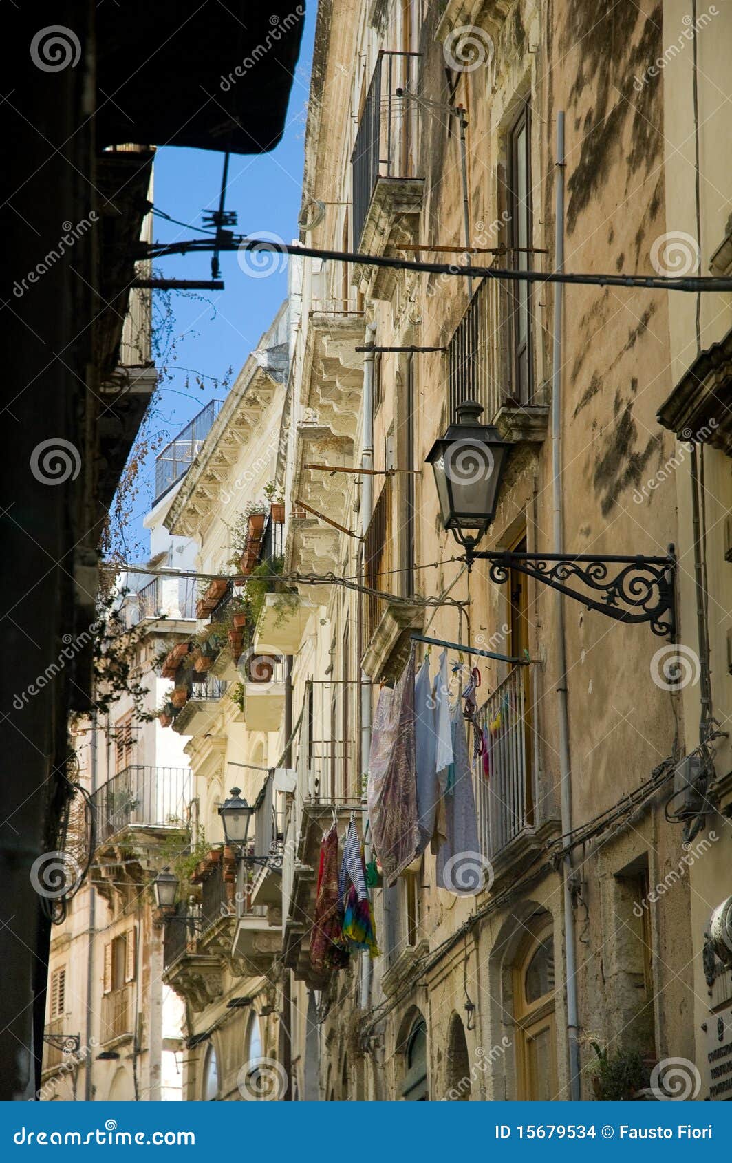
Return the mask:
<svg viewBox="0 0 732 1163">
<path fill-rule="evenodd" d="M 515 666 L 483 711 L 488 775 L 478 764 L 476 799 L 481 848 L 491 859 L 534 822 L 531 675 Z"/>
</svg>

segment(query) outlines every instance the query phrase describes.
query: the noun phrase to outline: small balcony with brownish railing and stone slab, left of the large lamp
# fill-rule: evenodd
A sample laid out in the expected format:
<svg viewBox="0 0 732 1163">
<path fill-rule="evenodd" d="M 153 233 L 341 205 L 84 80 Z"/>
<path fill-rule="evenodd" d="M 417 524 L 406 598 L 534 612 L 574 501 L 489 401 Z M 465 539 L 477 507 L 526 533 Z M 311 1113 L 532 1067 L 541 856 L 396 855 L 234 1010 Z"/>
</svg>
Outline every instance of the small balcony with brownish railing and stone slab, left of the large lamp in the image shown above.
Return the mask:
<svg viewBox="0 0 732 1163">
<path fill-rule="evenodd" d="M 371 590 L 389 593 L 394 586 L 394 528 L 392 481 L 387 477 L 366 530 L 364 571 Z M 361 659 L 369 678 L 392 678 L 401 671 L 409 651 L 409 633 L 422 629 L 424 608 L 388 601 L 369 593 L 365 598 Z"/>
</svg>

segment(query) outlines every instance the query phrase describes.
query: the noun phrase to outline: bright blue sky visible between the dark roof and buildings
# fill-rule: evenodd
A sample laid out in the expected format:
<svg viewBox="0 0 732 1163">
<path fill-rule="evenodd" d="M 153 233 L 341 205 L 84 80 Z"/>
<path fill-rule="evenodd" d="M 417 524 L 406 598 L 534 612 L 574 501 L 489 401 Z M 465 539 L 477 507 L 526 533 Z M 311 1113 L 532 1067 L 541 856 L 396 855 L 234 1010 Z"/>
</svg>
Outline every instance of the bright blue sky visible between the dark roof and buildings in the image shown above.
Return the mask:
<svg viewBox="0 0 732 1163">
<path fill-rule="evenodd" d="M 238 223 L 234 229 L 238 233 L 275 235 L 285 242 L 297 237 L 315 16 L 316 5 L 311 0 L 307 7 L 282 141 L 271 154 L 232 156 L 230 159 L 227 209 L 237 212 Z M 223 155 L 209 150 L 159 149 L 155 162 L 156 208 L 180 222 L 202 226 L 201 212 L 218 205 L 222 167 Z M 159 216 L 155 219 L 153 235 L 156 241 L 165 242 L 201 237 Z M 221 256 L 224 291 L 204 291 L 195 298 L 171 295 L 177 358 L 170 365 L 172 379 L 166 378 L 164 383 L 159 421 L 156 419 L 155 424 L 167 434 L 167 438 L 209 399 L 223 394 L 211 380 L 220 380 L 229 368 L 236 376 L 272 322 L 287 292 L 285 262 L 278 259 L 275 265 L 273 273 L 254 278 L 242 271 L 236 254 L 224 254 Z M 166 257 L 156 264 L 156 274 L 208 279 L 210 256 Z M 202 391 L 191 372 L 210 377 L 203 379 Z M 146 480 L 151 481 L 152 476 L 153 461 L 145 469 Z M 139 521 L 151 498 L 151 487 L 143 487 L 137 512 L 131 516 L 135 537 L 139 536 Z"/>
</svg>

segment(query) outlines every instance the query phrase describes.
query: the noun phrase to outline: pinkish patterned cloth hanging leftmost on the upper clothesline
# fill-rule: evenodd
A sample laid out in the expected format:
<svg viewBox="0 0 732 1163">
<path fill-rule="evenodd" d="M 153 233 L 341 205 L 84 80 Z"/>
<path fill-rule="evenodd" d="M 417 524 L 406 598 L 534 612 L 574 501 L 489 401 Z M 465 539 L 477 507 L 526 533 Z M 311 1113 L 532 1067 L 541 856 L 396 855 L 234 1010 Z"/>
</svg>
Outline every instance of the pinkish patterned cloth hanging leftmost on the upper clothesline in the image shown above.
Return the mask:
<svg viewBox="0 0 732 1163">
<path fill-rule="evenodd" d="M 394 687 L 382 687 L 374 714 L 368 764 L 368 821 L 387 884 L 419 847 L 415 779 L 415 657 Z"/>
</svg>

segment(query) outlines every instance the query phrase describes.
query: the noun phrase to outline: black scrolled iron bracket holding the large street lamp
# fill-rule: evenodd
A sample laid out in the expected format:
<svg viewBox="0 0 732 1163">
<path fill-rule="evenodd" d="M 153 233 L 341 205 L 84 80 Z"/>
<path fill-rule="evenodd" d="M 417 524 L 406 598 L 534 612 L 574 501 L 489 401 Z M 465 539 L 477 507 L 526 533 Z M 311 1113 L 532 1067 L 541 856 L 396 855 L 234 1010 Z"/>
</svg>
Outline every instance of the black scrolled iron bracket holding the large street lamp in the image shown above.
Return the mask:
<svg viewBox="0 0 732 1163">
<path fill-rule="evenodd" d="M 581 601 L 617 622 L 650 622 L 653 634 L 668 635 L 675 641 L 676 618 L 674 588 L 676 554 L 668 547 L 666 557 L 596 556 L 595 554 L 515 554 L 510 550 L 475 549 L 464 541 L 468 569 L 475 559 L 490 562 L 488 576 L 502 585 L 512 570 L 518 570 L 568 598 Z M 576 579 L 590 591 L 582 593 L 565 583 Z M 594 598 L 591 592 L 602 595 Z"/>
</svg>

